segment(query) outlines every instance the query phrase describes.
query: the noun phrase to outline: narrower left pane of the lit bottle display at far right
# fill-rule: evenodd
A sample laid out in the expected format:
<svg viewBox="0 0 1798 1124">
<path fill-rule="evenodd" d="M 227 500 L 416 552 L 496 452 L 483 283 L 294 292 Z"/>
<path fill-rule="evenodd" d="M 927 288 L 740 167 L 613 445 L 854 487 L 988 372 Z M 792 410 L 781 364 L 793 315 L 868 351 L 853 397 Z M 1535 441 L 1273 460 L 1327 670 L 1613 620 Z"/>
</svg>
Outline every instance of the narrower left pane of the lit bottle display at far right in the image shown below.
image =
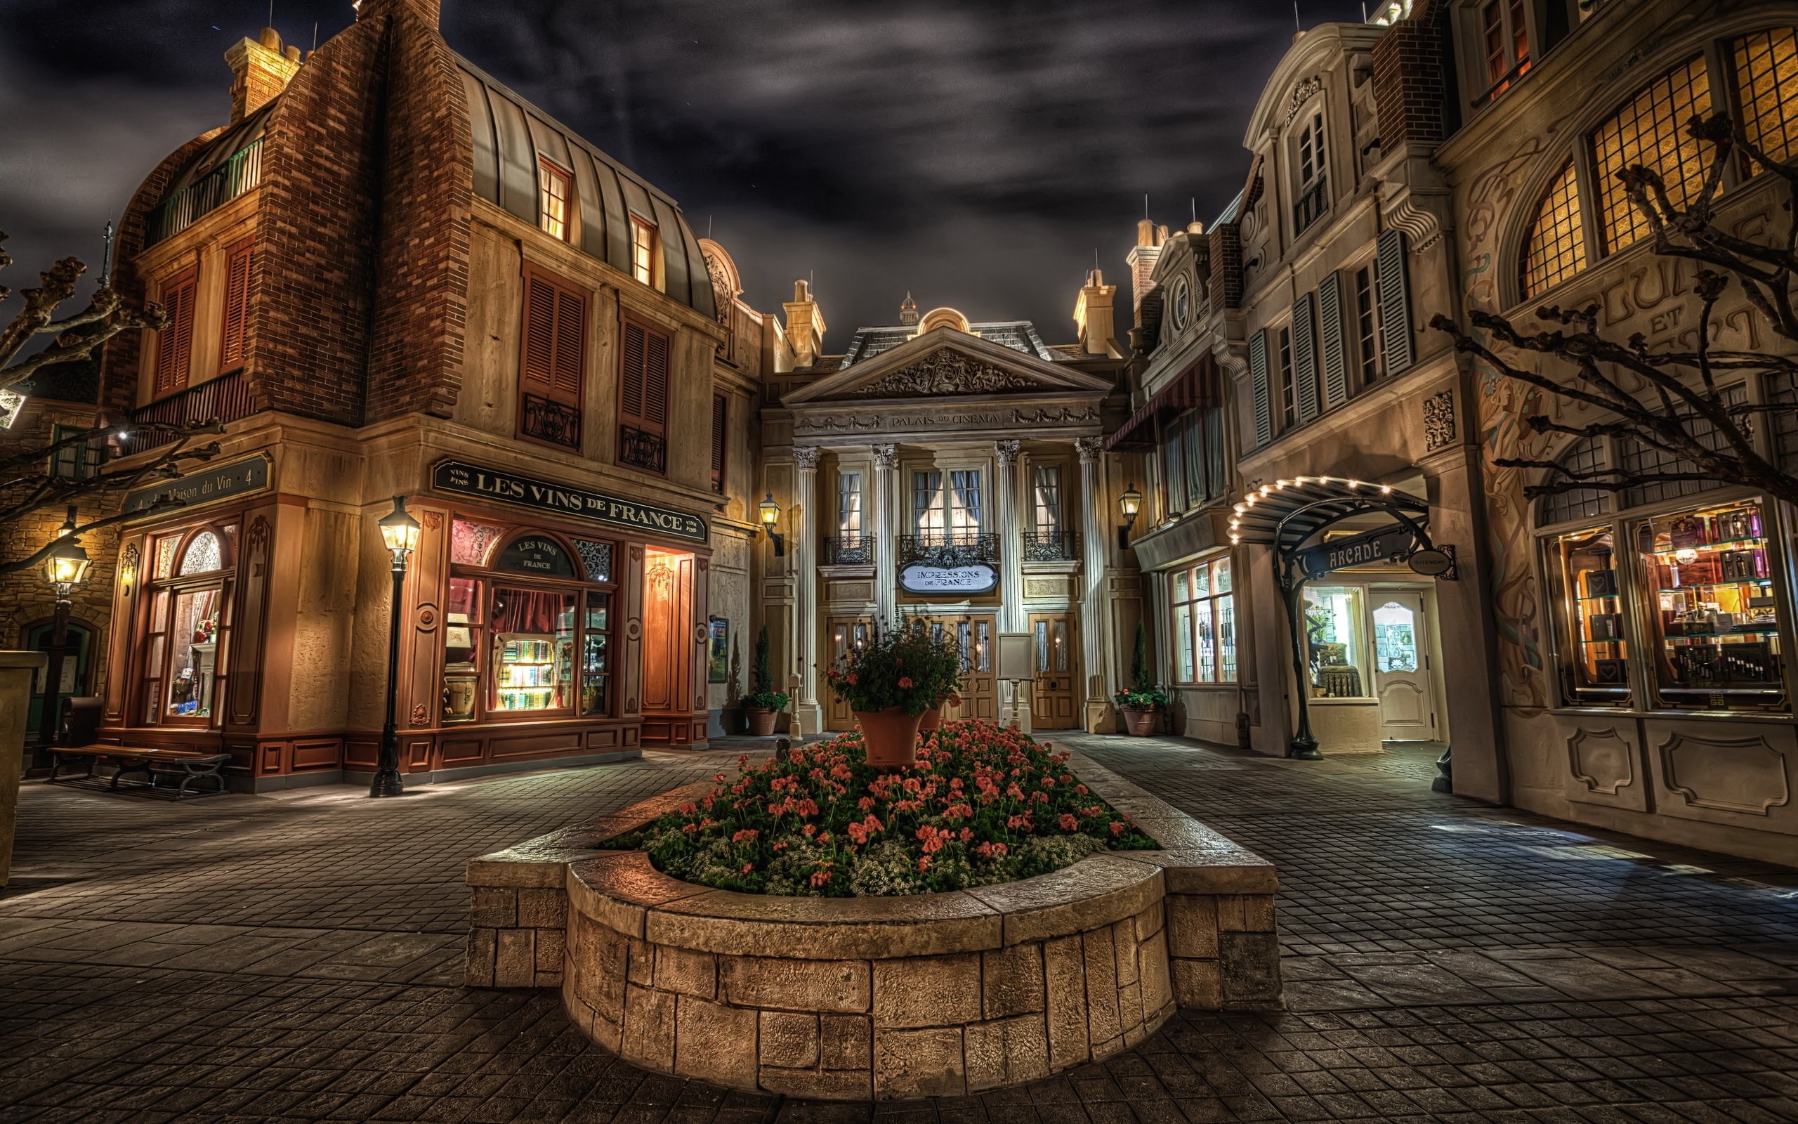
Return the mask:
<svg viewBox="0 0 1798 1124">
<path fill-rule="evenodd" d="M 1613 536 L 1575 531 L 1550 540 L 1550 549 L 1562 698 L 1577 707 L 1625 707 L 1629 642 Z"/>
</svg>

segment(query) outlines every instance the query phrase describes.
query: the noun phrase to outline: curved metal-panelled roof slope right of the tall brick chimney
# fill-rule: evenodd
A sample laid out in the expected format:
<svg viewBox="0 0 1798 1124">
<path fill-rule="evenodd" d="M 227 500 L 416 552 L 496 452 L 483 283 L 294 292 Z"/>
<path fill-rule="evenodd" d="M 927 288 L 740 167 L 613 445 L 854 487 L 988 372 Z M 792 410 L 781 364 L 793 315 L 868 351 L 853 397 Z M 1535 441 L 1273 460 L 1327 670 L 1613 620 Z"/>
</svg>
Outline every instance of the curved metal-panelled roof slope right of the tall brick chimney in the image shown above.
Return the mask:
<svg viewBox="0 0 1798 1124">
<path fill-rule="evenodd" d="M 548 160 L 574 180 L 581 216 L 579 250 L 629 273 L 635 216 L 654 227 L 662 241 L 663 291 L 696 313 L 717 315 L 699 239 L 672 198 L 475 63 L 460 54 L 455 61 L 467 95 L 476 196 L 534 227 L 538 162 Z"/>
</svg>

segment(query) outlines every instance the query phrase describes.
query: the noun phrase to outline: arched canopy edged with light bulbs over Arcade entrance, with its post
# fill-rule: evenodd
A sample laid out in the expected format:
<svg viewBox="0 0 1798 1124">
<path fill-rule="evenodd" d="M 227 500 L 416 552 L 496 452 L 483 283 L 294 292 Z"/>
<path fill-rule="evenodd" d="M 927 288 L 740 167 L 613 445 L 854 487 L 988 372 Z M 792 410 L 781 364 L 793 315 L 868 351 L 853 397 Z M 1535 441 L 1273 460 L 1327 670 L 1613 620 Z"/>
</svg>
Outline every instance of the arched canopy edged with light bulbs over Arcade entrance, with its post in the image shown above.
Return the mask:
<svg viewBox="0 0 1798 1124">
<path fill-rule="evenodd" d="M 1383 558 L 1404 559 L 1424 550 L 1437 554 L 1429 541 L 1429 504 L 1395 491 L 1390 484 L 1343 477 L 1298 477 L 1262 484 L 1242 496 L 1233 511 L 1230 541 L 1271 547 L 1273 575 L 1286 595 L 1286 624 L 1293 642 L 1298 696 L 1298 732 L 1287 743 L 1286 755 L 1322 757 L 1318 739 L 1311 734 L 1311 707 L 1305 700 L 1309 691 L 1304 586 L 1313 577 L 1343 566 Z M 1350 538 L 1322 541 L 1331 527 L 1361 516 L 1375 516 L 1377 525 Z M 1419 566 L 1419 572 L 1424 570 Z"/>
</svg>

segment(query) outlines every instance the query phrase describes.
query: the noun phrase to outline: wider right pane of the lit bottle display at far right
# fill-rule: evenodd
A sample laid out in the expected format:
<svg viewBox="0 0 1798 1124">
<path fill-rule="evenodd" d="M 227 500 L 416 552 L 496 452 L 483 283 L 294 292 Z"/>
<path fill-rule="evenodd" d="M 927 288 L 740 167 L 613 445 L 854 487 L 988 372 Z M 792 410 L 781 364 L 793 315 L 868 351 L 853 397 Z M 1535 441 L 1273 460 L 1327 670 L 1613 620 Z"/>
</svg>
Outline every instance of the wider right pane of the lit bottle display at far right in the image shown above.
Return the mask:
<svg viewBox="0 0 1798 1124">
<path fill-rule="evenodd" d="M 1780 613 L 1758 500 L 1713 504 L 1636 527 L 1654 592 L 1656 696 L 1665 707 L 1785 707 Z"/>
</svg>

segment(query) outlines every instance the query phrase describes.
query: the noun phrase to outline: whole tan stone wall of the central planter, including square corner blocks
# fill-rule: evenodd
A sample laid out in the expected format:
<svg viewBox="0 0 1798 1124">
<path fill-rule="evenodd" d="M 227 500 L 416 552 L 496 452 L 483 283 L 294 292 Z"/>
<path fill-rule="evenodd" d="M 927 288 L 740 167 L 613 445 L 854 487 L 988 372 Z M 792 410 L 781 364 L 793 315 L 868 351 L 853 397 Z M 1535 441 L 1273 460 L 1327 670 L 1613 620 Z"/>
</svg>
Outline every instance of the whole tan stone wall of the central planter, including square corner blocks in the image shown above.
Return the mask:
<svg viewBox="0 0 1798 1124">
<path fill-rule="evenodd" d="M 840 1101 L 964 1095 L 1124 1050 L 1176 1005 L 1280 1004 L 1273 865 L 1075 755 L 1160 851 L 1000 887 L 775 897 L 676 881 L 599 843 L 663 793 L 467 865 L 467 982 L 559 987 L 649 1070 Z"/>
</svg>

